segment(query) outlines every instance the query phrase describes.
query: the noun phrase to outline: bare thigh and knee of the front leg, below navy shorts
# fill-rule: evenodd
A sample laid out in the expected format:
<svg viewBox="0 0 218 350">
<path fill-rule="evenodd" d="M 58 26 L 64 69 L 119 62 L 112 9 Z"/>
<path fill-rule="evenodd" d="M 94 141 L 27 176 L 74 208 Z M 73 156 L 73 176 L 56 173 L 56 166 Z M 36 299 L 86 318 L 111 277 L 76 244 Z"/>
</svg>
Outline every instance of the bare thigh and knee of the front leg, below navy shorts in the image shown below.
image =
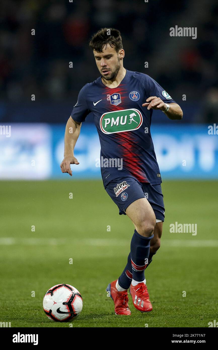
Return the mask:
<svg viewBox="0 0 218 350">
<path fill-rule="evenodd" d="M 151 236 L 155 227 L 156 217 L 146 198 L 139 198 L 126 209 L 126 215 L 132 220 L 136 231 L 142 236 Z"/>
</svg>

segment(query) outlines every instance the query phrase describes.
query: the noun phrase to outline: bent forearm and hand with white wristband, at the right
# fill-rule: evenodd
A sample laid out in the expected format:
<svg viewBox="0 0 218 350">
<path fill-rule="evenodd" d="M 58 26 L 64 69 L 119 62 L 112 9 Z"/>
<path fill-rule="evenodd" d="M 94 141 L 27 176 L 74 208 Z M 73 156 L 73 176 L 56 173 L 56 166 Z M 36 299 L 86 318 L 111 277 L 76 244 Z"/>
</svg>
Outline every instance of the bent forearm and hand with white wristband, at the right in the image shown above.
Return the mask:
<svg viewBox="0 0 218 350">
<path fill-rule="evenodd" d="M 169 119 L 173 119 L 173 120 L 176 120 L 176 119 L 181 120 L 183 116 L 182 109 L 177 103 L 172 102 L 172 103 L 166 104 L 161 100 L 160 97 L 156 97 L 156 96 L 148 97 L 146 100 L 146 103 L 142 104 L 142 107 L 147 107 L 148 110 L 150 110 L 151 108 L 155 110 L 161 110 L 166 114 L 166 116 Z"/>
</svg>

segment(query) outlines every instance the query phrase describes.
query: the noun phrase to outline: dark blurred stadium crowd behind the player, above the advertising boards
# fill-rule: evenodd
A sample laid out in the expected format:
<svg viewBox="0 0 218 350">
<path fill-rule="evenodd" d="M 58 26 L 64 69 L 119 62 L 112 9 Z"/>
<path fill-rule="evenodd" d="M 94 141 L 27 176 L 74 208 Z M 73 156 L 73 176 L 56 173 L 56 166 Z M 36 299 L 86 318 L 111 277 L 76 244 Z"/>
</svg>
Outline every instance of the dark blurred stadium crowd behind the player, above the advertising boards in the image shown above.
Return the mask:
<svg viewBox="0 0 218 350">
<path fill-rule="evenodd" d="M 170 27 L 175 25 L 197 27 L 197 39 L 170 37 Z M 0 120 L 29 121 L 27 116 L 17 120 L 5 106 L 25 106 L 31 94 L 37 103 L 73 106 L 80 88 L 99 76 L 88 43 L 102 27 L 121 31 L 125 68 L 152 76 L 178 103 L 186 94 L 188 104 L 202 107 L 195 121 L 216 122 L 216 0 L 2 0 Z M 37 113 L 34 117 L 43 121 Z M 60 122 L 58 117 L 49 121 Z"/>
</svg>

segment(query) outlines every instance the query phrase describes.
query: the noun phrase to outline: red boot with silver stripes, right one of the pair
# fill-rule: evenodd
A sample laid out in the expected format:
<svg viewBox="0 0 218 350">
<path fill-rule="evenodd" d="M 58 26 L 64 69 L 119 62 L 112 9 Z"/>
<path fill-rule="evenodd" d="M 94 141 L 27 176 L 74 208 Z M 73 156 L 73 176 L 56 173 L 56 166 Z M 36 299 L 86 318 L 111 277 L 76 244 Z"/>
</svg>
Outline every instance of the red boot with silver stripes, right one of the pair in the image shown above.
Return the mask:
<svg viewBox="0 0 218 350">
<path fill-rule="evenodd" d="M 152 304 L 149 300 L 148 288 L 144 282 L 138 283 L 135 287 L 130 286 L 130 294 L 134 307 L 141 312 L 152 311 Z"/>
</svg>

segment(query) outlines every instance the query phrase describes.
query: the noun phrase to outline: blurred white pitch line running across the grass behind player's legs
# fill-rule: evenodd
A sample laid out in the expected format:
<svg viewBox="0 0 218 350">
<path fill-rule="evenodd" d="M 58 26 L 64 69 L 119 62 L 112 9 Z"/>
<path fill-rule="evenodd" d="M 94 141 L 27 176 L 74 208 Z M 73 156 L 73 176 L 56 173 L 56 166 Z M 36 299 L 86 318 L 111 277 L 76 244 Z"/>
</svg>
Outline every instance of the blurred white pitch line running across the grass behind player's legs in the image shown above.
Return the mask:
<svg viewBox="0 0 218 350">
<path fill-rule="evenodd" d="M 0 237 L 0 245 L 87 245 L 96 247 L 106 246 L 126 246 L 130 245 L 130 240 L 127 239 L 114 239 L 114 238 L 15 238 L 15 237 Z M 196 239 L 196 236 L 189 238 L 188 240 L 181 239 L 161 239 L 161 244 L 164 248 L 167 247 L 218 247 L 218 240 L 200 240 Z"/>
</svg>

